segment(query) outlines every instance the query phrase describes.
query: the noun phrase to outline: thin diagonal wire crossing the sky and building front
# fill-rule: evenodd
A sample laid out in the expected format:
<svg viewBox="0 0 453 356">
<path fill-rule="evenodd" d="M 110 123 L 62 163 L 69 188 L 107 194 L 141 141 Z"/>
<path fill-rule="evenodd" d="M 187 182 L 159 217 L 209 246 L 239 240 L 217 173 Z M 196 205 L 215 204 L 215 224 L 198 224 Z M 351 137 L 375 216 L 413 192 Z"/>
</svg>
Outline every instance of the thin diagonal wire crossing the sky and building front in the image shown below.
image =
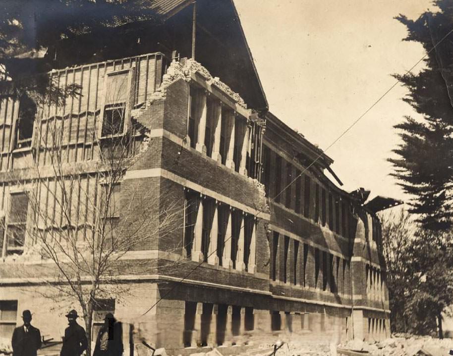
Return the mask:
<svg viewBox="0 0 453 356">
<path fill-rule="evenodd" d="M 423 59 L 425 59 L 432 51 L 434 51 L 436 49 L 437 46 L 439 46 L 451 33 L 453 32 L 453 29 L 451 29 L 444 37 L 442 37 L 434 46 L 431 50 L 427 51 L 425 53 L 425 55 L 423 55 L 414 65 L 412 65 L 403 75 L 403 77 L 405 77 L 407 74 L 409 74 Z M 389 88 L 387 89 L 384 94 L 382 94 L 375 102 L 373 102 L 371 104 L 371 106 L 369 106 L 355 121 L 353 121 L 324 151 L 322 151 L 321 153 L 319 153 L 316 158 L 302 171 L 300 172 L 300 174 L 298 174 L 291 182 L 289 182 L 272 200 L 275 200 L 277 197 L 279 197 L 286 189 L 288 189 L 299 177 L 301 177 L 313 164 L 315 164 L 319 158 L 321 158 L 323 156 L 323 154 L 329 150 L 332 146 L 334 146 L 338 141 L 340 141 L 340 139 L 346 134 L 348 133 L 373 107 L 375 107 L 382 99 L 384 99 L 384 97 L 389 94 L 393 88 L 396 87 L 396 85 L 400 82 L 399 79 L 396 80 L 396 82 Z M 260 213 L 262 213 L 264 210 L 261 208 L 260 210 L 258 210 L 257 214 L 255 215 L 258 216 Z M 231 217 L 230 217 L 231 218 Z M 244 228 L 245 227 L 245 223 L 243 223 L 240 227 L 240 229 Z M 239 229 L 239 230 L 240 230 Z M 232 235 L 229 236 L 225 242 L 227 242 L 228 240 L 230 240 L 232 238 Z M 213 251 L 211 254 L 208 255 L 208 258 L 210 256 L 212 256 L 213 254 L 217 253 L 217 249 L 215 251 Z M 154 303 L 153 305 L 151 305 L 151 307 L 148 308 L 148 310 L 146 310 L 143 314 L 147 314 L 148 312 L 150 312 L 161 300 L 163 300 L 165 297 L 167 297 L 174 289 L 176 289 L 176 287 L 184 282 L 198 267 L 200 267 L 202 264 L 204 263 L 204 260 L 199 262 L 193 269 L 191 269 L 183 278 L 181 278 L 179 281 L 176 282 L 176 284 L 167 292 L 165 293 L 163 296 L 161 296 L 157 301 L 156 303 Z"/>
</svg>

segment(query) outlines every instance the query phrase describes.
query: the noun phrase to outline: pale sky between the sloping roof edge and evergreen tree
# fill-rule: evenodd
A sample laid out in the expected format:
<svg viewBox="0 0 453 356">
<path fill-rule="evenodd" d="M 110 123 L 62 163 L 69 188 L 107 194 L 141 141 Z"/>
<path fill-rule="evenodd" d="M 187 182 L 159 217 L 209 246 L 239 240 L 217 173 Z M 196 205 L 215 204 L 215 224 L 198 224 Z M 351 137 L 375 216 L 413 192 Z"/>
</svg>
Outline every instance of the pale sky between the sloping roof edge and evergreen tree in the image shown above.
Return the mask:
<svg viewBox="0 0 453 356">
<path fill-rule="evenodd" d="M 234 0 L 269 108 L 325 150 L 424 54 L 402 41 L 399 13 L 416 19 L 429 0 Z M 414 71 L 423 68 L 419 64 Z M 387 158 L 400 142 L 393 126 L 418 117 L 398 84 L 326 154 L 342 189 L 409 199 Z"/>
</svg>

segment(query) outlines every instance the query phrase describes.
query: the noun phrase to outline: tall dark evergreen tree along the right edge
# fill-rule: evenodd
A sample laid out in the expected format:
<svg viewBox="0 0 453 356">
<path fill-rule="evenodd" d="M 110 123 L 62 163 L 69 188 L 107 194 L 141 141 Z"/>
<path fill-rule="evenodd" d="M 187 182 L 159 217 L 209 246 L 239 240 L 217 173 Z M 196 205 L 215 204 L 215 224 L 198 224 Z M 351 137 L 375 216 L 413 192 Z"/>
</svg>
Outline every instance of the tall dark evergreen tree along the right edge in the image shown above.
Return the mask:
<svg viewBox="0 0 453 356">
<path fill-rule="evenodd" d="M 422 227 L 448 231 L 452 226 L 453 33 L 448 34 L 453 29 L 453 2 L 434 4 L 439 12 L 425 12 L 415 21 L 396 17 L 407 27 L 404 40 L 420 43 L 428 54 L 426 68 L 418 74 L 395 75 L 409 90 L 403 100 L 423 119 L 406 116 L 395 126 L 402 144 L 394 152 L 400 157 L 389 161 L 395 166 L 393 175 L 413 197 L 409 211 L 419 214 Z"/>
</svg>

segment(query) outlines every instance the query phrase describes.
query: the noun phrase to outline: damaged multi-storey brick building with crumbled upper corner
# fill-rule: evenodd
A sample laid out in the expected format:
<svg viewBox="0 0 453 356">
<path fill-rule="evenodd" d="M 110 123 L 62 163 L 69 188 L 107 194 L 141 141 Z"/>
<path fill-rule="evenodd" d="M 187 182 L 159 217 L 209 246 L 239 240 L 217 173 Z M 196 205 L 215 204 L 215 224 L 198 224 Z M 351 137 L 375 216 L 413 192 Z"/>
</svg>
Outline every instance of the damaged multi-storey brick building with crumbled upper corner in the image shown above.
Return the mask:
<svg viewBox="0 0 453 356">
<path fill-rule="evenodd" d="M 269 112 L 231 0 L 156 4 L 163 23 L 130 28 L 102 53 L 89 44 L 71 52 L 64 41 L 51 53 L 57 60 L 49 75 L 61 86 L 79 84 L 79 98 L 61 108 L 38 106 L 33 117 L 21 110 L 25 99 L 1 102 L 0 338 L 10 337 L 25 308 L 56 340 L 65 325 L 63 312 L 49 313 L 53 302 L 39 297 L 49 288 L 41 280 L 45 262 L 27 255 L 33 241 L 17 232 L 32 213 L 23 182 L 35 184 L 36 166 L 49 164 L 39 137 L 50 120 L 67 130 L 68 164 L 85 164 L 89 177 L 107 120 L 118 121 L 119 136 L 140 127 L 135 139 L 148 150 L 117 186 L 119 219 L 137 189 L 182 207 L 170 238 L 157 233 L 123 256 L 128 263 L 115 278 L 133 291 L 112 293 L 95 323 L 113 311 L 143 339 L 168 349 L 282 332 L 389 336 L 376 212 L 394 201 L 365 203 L 369 192 L 338 188 L 324 173 L 338 179 L 333 160 Z M 111 99 L 109 88 L 119 82 Z M 87 187 L 96 184 L 87 178 Z M 184 263 L 159 268 L 167 260 Z M 135 273 L 134 261 L 156 268 Z"/>
</svg>

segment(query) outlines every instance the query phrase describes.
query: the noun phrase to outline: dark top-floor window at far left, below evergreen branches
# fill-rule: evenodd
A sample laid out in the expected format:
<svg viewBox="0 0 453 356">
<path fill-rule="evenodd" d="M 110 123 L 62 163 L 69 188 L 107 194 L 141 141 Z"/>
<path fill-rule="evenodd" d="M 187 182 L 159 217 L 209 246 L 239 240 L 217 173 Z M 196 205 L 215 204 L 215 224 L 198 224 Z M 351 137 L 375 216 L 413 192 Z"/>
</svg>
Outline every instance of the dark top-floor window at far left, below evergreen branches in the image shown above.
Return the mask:
<svg viewBox="0 0 453 356">
<path fill-rule="evenodd" d="M 34 102 L 27 94 L 24 94 L 20 98 L 14 142 L 15 149 L 31 146 L 36 109 L 36 102 Z"/>
</svg>

